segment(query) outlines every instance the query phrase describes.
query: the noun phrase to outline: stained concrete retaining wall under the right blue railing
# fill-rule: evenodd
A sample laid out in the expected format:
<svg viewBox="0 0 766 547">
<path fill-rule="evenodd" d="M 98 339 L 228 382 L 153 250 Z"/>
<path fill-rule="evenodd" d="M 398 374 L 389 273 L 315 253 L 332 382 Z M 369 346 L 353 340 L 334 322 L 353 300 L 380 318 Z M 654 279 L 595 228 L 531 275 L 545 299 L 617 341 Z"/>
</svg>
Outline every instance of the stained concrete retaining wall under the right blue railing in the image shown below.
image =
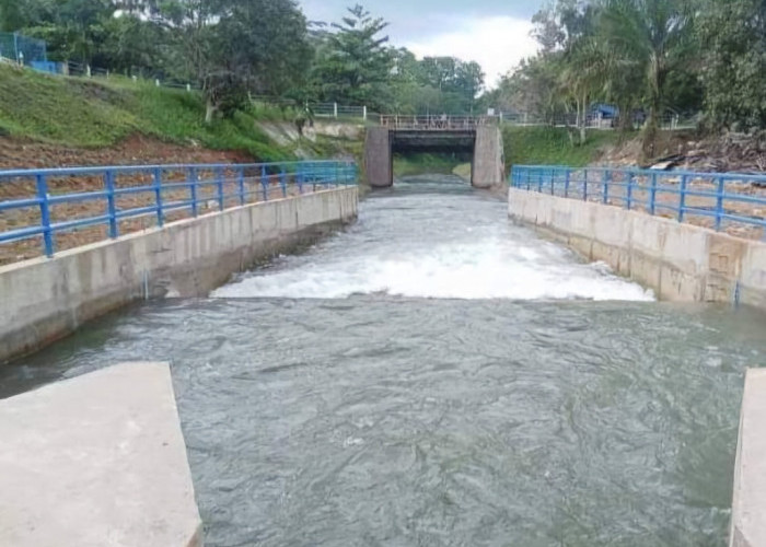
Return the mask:
<svg viewBox="0 0 766 547">
<path fill-rule="evenodd" d="M 766 309 L 766 244 L 643 212 L 509 189 L 509 214 L 662 300 Z"/>
</svg>

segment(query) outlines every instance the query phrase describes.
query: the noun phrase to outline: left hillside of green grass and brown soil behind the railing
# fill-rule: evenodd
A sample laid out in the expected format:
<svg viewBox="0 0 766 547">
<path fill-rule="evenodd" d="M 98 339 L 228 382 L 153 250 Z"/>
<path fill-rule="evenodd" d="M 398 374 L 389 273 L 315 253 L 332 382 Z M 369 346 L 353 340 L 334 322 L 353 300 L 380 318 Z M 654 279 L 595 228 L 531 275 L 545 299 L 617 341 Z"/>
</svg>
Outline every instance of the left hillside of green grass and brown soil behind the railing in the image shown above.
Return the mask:
<svg viewBox="0 0 766 547">
<path fill-rule="evenodd" d="M 198 161 L 217 161 L 217 151 L 225 152 L 221 161 L 230 161 L 232 154 L 241 161 L 280 161 L 353 153 L 359 148 L 344 136 L 317 131 L 311 139 L 289 130 L 285 132 L 294 138 L 275 139 L 263 125 L 294 127 L 290 113 L 279 109 L 253 107 L 210 125 L 204 124 L 204 116 L 197 92 L 123 78 L 49 77 L 0 65 L 0 166 L 4 167 L 148 163 L 142 151 L 150 152 L 153 161 L 162 160 L 163 152 L 185 161 L 197 155 Z M 131 146 L 137 141 L 143 144 Z"/>
</svg>

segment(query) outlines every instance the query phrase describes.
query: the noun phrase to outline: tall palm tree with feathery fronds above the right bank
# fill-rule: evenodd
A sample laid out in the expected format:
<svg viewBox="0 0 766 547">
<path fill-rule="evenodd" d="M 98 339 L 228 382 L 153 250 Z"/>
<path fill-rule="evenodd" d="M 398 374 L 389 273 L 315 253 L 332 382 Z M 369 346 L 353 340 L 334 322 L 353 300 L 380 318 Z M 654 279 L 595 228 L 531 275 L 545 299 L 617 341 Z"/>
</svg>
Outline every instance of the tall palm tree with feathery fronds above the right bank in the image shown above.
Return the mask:
<svg viewBox="0 0 766 547">
<path fill-rule="evenodd" d="M 643 153 L 653 155 L 668 74 L 683 62 L 694 39 L 689 0 L 605 0 L 601 32 L 612 55 L 643 73 L 649 119 Z"/>
</svg>

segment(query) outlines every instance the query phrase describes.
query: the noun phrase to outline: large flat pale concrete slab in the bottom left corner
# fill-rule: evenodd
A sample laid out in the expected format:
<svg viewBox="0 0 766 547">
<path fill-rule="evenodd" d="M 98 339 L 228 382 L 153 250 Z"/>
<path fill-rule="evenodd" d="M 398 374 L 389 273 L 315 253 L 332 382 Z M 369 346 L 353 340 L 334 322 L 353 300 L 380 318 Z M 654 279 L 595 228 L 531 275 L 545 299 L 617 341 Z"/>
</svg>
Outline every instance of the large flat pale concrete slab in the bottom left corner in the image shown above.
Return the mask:
<svg viewBox="0 0 766 547">
<path fill-rule="evenodd" d="M 2 400 L 0 439 L 0 545 L 202 545 L 167 364 Z"/>
</svg>

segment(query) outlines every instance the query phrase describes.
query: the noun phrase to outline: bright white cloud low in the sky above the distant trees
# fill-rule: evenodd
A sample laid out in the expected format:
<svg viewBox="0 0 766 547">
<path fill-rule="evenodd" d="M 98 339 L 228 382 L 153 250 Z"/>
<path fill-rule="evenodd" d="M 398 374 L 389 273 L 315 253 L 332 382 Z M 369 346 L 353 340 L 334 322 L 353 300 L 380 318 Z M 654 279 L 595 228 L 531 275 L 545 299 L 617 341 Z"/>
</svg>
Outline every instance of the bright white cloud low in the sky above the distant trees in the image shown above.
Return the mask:
<svg viewBox="0 0 766 547">
<path fill-rule="evenodd" d="M 422 39 L 410 39 L 405 46 L 418 57 L 452 56 L 477 61 L 487 74 L 489 88 L 497 85 L 500 77 L 522 59 L 537 51 L 537 43 L 530 35 L 532 23 L 522 19 L 469 18 L 453 28 Z"/>
</svg>

